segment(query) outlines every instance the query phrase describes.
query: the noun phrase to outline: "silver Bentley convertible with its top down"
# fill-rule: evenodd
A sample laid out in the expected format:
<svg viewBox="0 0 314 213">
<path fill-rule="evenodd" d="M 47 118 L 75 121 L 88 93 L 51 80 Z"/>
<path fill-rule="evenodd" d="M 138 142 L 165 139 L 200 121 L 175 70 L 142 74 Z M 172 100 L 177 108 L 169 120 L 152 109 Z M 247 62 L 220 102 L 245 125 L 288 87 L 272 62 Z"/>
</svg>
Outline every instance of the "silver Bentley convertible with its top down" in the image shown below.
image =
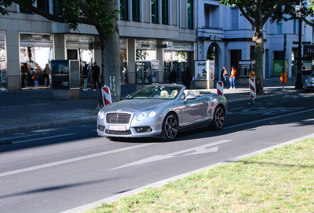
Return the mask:
<svg viewBox="0 0 314 213">
<path fill-rule="evenodd" d="M 227 100 L 221 95 L 177 84 L 143 86 L 125 100 L 100 109 L 97 133 L 108 138 L 157 136 L 173 141 L 178 132 L 201 126 L 221 130 L 227 111 Z"/>
</svg>

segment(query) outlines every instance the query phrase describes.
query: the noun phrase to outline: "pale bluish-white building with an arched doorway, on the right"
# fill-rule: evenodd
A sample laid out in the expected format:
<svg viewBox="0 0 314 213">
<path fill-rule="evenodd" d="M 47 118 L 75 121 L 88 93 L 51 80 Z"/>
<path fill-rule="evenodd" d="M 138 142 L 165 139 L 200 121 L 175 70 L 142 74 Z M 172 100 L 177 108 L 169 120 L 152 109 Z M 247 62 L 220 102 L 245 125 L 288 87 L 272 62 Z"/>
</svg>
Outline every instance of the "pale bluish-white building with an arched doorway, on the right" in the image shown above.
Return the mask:
<svg viewBox="0 0 314 213">
<path fill-rule="evenodd" d="M 254 71 L 255 43 L 252 37 L 254 27 L 243 17 L 237 7 L 221 5 L 217 0 L 198 0 L 196 29 L 196 59 L 215 61 L 215 79 L 220 79 L 223 67 L 230 72 L 235 66 L 240 83 L 247 83 L 249 71 Z M 268 21 L 264 31 L 264 78 L 277 77 L 274 61 L 283 61 L 287 65 L 288 77 L 296 74 L 296 57 L 298 48 L 298 20 L 279 23 Z M 286 34 L 286 56 L 284 57 L 283 43 Z M 303 74 L 313 70 L 313 28 L 302 23 L 302 55 L 305 55 Z M 305 51 L 305 52 L 304 52 Z M 309 52 L 307 55 L 306 52 Z M 282 67 L 283 65 L 281 65 Z M 278 80 L 274 78 L 274 81 Z"/>
</svg>

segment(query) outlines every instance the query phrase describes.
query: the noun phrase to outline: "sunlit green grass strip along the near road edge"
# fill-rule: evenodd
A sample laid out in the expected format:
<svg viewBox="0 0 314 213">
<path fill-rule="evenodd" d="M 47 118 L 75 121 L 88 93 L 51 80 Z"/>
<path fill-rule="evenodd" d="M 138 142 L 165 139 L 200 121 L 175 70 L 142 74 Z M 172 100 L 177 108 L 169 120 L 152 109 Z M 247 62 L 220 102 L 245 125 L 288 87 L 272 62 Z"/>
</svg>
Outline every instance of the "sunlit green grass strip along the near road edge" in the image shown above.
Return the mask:
<svg viewBox="0 0 314 213">
<path fill-rule="evenodd" d="M 86 213 L 314 213 L 314 138 L 147 188 Z"/>
</svg>

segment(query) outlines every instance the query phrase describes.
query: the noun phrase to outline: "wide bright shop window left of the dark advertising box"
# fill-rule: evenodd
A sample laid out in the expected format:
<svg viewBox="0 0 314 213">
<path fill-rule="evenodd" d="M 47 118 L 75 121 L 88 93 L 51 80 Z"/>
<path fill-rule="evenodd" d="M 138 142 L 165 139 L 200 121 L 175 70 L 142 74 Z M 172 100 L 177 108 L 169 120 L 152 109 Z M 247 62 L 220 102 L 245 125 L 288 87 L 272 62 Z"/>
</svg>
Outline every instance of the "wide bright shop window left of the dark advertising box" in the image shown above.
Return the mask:
<svg viewBox="0 0 314 213">
<path fill-rule="evenodd" d="M 22 88 L 50 86 L 52 57 L 51 47 L 21 47 Z"/>
</svg>

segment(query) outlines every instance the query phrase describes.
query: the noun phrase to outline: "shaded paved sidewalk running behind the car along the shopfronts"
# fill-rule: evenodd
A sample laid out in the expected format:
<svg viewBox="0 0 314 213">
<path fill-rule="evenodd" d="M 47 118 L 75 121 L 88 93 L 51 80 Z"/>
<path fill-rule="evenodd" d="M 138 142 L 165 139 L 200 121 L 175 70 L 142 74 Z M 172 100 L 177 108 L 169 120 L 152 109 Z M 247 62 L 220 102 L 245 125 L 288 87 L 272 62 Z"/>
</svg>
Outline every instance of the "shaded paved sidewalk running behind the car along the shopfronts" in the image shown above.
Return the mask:
<svg viewBox="0 0 314 213">
<path fill-rule="evenodd" d="M 285 91 L 282 91 L 282 83 L 273 83 L 272 78 L 265 79 L 265 94 L 295 92 L 295 82 L 295 78 L 289 78 L 288 83 L 284 84 Z M 215 80 L 215 87 L 216 83 Z M 229 81 L 227 81 L 227 88 L 229 87 Z M 195 81 L 192 82 L 191 89 L 195 89 Z M 121 99 L 124 99 L 134 90 L 136 90 L 136 85 L 121 85 Z M 204 91 L 217 93 L 217 89 L 204 89 Z M 96 121 L 98 110 L 95 107 L 99 95 L 99 91 L 80 90 L 79 100 L 59 101 L 53 99 L 52 89 L 0 92 L 0 133 L 82 121 Z M 250 100 L 248 85 L 239 85 L 237 80 L 236 89 L 226 89 L 224 95 L 229 103 Z M 259 97 L 262 96 L 257 98 Z"/>
</svg>

